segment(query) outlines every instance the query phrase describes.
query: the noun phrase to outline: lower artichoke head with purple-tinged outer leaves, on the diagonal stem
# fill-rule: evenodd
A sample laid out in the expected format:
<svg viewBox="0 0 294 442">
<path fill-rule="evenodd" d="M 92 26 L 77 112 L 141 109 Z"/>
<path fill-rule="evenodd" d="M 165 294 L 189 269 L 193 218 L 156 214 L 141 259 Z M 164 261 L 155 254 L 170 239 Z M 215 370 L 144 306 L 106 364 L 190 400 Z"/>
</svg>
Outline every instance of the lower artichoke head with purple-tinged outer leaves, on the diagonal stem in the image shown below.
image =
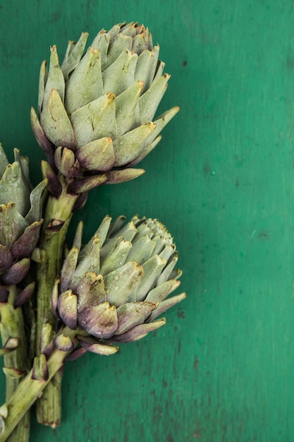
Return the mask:
<svg viewBox="0 0 294 442">
<path fill-rule="evenodd" d="M 125 225 L 124 220 L 111 223 L 105 217 L 81 250 L 78 228 L 54 287 L 56 316 L 77 330 L 82 351 L 111 354 L 117 347 L 109 343 L 143 338 L 164 325 L 164 318 L 154 321 L 157 316 L 185 298 L 185 293 L 169 297 L 181 271 L 175 269 L 176 245 L 166 227 L 137 216 Z M 72 345 L 62 332 L 55 343 L 66 351 Z"/>
</svg>

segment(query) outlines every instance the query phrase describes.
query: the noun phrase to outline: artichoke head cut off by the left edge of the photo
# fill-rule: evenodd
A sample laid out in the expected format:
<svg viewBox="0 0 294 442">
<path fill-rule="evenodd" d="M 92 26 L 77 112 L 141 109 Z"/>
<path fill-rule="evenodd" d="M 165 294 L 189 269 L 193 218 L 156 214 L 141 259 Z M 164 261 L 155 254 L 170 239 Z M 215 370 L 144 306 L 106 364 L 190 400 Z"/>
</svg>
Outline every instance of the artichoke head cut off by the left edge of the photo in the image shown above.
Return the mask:
<svg viewBox="0 0 294 442">
<path fill-rule="evenodd" d="M 42 225 L 42 197 L 46 181 L 32 189 L 27 157 L 14 150 L 15 161 L 9 164 L 0 144 L 0 297 L 5 285 L 18 284 L 30 268 L 30 254 L 35 249 Z M 23 294 L 23 296 L 25 293 Z"/>
</svg>

